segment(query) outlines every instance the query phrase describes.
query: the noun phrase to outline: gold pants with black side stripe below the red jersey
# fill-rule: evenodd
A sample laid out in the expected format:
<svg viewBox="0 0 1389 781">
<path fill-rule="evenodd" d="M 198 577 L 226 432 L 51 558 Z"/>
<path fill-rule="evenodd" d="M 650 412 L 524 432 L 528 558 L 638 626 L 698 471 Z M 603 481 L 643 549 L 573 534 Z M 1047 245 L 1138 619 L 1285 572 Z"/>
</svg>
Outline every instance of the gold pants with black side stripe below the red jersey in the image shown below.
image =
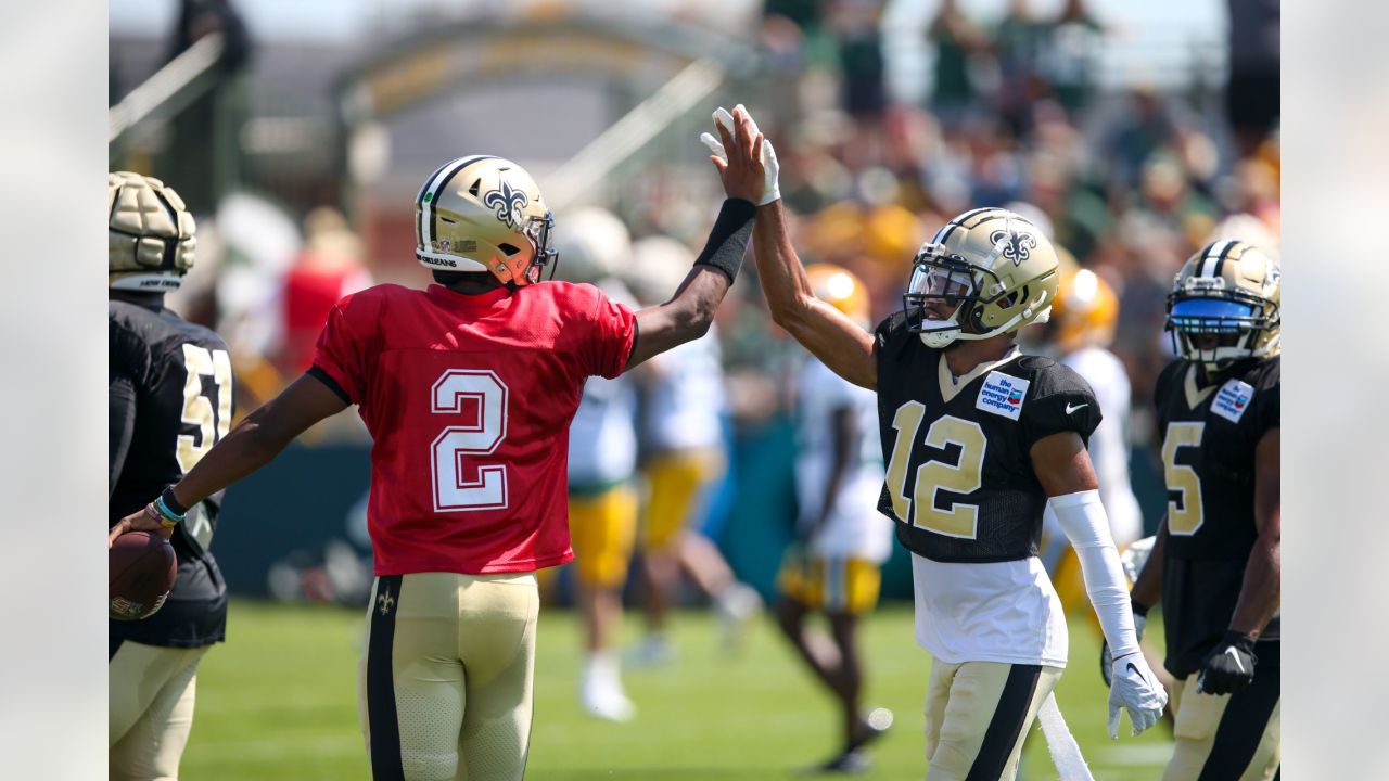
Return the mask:
<svg viewBox="0 0 1389 781">
<path fill-rule="evenodd" d="M 510 781 L 531 743 L 533 573 L 382 575 L 357 685 L 375 781 Z"/>
</svg>

